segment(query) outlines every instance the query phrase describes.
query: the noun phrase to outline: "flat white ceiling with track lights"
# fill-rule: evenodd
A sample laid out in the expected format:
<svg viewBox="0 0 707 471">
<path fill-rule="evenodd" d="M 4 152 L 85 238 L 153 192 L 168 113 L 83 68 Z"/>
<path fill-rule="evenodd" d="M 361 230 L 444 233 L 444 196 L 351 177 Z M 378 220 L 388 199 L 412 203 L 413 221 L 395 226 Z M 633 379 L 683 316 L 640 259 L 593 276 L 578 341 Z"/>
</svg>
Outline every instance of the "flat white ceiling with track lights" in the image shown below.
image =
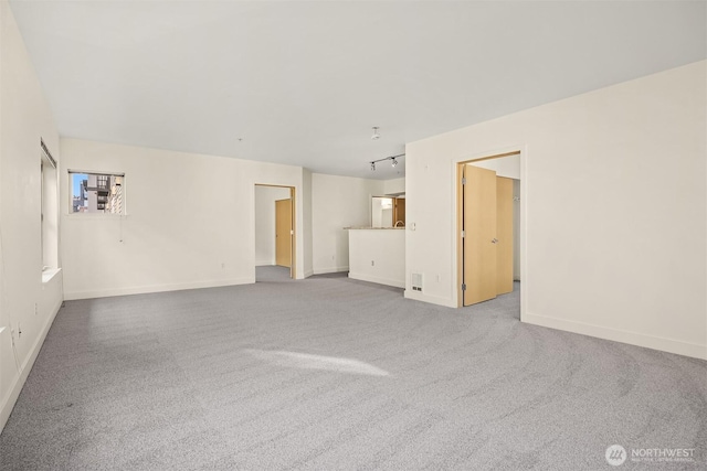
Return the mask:
<svg viewBox="0 0 707 471">
<path fill-rule="evenodd" d="M 63 136 L 383 179 L 405 142 L 705 58 L 705 6 L 11 2 Z"/>
</svg>

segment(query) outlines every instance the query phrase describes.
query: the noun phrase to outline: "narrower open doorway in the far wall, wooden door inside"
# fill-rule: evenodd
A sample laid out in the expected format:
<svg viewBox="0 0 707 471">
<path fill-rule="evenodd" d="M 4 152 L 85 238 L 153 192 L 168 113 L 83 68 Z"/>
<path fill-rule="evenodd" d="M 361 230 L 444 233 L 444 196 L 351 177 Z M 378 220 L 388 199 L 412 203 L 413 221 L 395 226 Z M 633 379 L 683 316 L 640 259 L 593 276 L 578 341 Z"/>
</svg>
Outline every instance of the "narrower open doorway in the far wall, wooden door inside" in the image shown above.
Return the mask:
<svg viewBox="0 0 707 471">
<path fill-rule="evenodd" d="M 295 189 L 255 185 L 255 281 L 295 278 Z"/>
</svg>

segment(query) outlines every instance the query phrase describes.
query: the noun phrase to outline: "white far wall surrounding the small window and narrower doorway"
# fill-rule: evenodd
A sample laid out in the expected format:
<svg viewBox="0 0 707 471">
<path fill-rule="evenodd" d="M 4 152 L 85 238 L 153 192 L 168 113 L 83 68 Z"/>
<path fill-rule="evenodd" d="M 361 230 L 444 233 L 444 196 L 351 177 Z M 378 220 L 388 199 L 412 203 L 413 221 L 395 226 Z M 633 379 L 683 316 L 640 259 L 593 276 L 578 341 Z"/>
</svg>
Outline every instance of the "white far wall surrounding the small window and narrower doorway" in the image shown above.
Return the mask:
<svg viewBox="0 0 707 471">
<path fill-rule="evenodd" d="M 66 299 L 255 281 L 255 184 L 295 188 L 296 276 L 304 277 L 302 169 L 61 140 L 66 169 L 124 172 L 127 215 L 68 214 L 61 179 Z"/>
</svg>

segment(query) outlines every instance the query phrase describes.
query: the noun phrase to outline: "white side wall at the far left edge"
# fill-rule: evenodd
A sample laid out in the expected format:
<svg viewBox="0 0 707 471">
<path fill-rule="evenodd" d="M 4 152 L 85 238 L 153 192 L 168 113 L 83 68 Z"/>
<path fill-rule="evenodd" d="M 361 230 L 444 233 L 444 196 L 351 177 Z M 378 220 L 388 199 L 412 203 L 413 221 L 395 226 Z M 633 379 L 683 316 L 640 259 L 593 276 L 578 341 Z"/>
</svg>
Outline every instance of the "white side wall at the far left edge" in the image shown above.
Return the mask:
<svg viewBox="0 0 707 471">
<path fill-rule="evenodd" d="M 62 274 L 42 281 L 40 226 L 40 139 L 61 165 L 59 133 L 7 1 L 0 1 L 0 64 L 2 429 L 62 302 Z"/>
</svg>

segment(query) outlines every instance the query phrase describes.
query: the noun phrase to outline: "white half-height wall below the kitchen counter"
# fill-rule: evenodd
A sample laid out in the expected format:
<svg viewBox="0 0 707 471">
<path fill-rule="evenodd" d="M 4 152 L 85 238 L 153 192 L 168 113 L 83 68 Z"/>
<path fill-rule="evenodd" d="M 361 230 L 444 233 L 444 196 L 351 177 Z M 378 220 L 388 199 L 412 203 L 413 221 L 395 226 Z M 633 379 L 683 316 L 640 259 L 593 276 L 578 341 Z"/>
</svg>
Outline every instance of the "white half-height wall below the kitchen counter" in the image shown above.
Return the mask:
<svg viewBox="0 0 707 471">
<path fill-rule="evenodd" d="M 405 287 L 405 231 L 350 229 L 349 278 Z"/>
</svg>

